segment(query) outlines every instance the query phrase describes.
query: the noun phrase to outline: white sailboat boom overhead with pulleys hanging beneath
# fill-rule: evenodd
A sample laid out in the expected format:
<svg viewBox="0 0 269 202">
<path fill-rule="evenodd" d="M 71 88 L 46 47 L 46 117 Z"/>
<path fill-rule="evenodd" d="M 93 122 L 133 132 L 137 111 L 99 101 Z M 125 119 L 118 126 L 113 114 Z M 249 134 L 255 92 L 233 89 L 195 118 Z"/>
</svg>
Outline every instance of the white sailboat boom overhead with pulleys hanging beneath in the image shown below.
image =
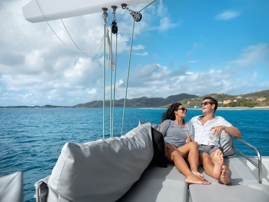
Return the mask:
<svg viewBox="0 0 269 202">
<path fill-rule="evenodd" d="M 57 20 L 103 12 L 103 7 L 111 10 L 111 6 L 118 6 L 118 9 L 122 9 L 121 4 L 123 3 L 127 4 L 128 7 L 150 2 L 150 0 L 31 0 L 22 7 L 24 18 L 29 22 L 46 21 L 38 8 L 37 2 L 47 20 Z"/>
</svg>

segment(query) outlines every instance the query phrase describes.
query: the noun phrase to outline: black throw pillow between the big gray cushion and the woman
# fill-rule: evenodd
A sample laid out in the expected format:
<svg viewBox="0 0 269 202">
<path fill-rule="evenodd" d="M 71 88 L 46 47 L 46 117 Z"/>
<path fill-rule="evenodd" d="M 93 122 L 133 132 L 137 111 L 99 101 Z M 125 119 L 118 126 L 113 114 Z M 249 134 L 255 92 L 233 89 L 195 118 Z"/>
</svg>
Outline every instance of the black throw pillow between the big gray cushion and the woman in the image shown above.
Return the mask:
<svg viewBox="0 0 269 202">
<path fill-rule="evenodd" d="M 152 143 L 154 149 L 152 164 L 167 168 L 167 159 L 164 152 L 164 137 L 160 131 L 151 127 Z"/>
</svg>

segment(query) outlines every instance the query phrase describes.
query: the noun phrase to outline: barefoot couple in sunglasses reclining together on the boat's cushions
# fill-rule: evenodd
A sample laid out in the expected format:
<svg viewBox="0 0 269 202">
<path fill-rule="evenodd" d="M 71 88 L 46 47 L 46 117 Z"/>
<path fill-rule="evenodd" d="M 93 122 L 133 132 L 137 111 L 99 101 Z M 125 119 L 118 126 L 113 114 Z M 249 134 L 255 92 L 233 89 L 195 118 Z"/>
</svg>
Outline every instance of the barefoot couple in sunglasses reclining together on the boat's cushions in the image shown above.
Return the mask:
<svg viewBox="0 0 269 202">
<path fill-rule="evenodd" d="M 218 102 L 213 97 L 205 97 L 201 107 L 204 115 L 195 116 L 187 123 L 184 121 L 187 109 L 180 103 L 172 104 L 162 115 L 160 132 L 164 135 L 166 158 L 175 163 L 176 168 L 185 175 L 185 182 L 188 184 L 211 184 L 204 181 L 204 175 L 198 172 L 198 163 L 203 165 L 207 175 L 220 183 L 232 184 L 229 170 L 224 165 L 223 149 L 210 137 L 218 138 L 221 131 L 233 137 L 240 137 L 241 133 L 224 118 L 214 116 Z M 192 126 L 190 136 L 185 134 L 187 125 Z"/>
</svg>

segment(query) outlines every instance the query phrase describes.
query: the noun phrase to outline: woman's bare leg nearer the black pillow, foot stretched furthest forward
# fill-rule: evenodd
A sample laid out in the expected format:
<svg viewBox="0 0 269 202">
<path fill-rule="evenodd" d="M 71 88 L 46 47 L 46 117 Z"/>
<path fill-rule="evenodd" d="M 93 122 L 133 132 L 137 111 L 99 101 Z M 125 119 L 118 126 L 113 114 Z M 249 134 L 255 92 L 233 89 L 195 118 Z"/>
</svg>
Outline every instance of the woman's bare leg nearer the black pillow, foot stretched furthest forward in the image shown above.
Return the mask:
<svg viewBox="0 0 269 202">
<path fill-rule="evenodd" d="M 167 159 L 175 163 L 176 168 L 185 175 L 185 182 L 188 184 L 211 184 L 211 182 L 205 182 L 190 171 L 187 163 L 184 159 L 184 154 L 180 152 L 173 144 L 167 143 Z M 197 163 L 198 164 L 198 163 Z"/>
</svg>

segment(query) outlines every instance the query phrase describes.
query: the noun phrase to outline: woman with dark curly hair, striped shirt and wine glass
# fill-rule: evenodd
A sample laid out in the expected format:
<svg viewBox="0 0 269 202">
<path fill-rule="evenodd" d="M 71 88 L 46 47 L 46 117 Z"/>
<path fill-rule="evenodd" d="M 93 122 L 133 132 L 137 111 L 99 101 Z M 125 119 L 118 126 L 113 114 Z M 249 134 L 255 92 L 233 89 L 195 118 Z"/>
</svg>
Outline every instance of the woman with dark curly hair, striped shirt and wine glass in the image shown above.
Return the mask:
<svg viewBox="0 0 269 202">
<path fill-rule="evenodd" d="M 185 175 L 186 183 L 211 184 L 211 182 L 205 182 L 204 175 L 198 172 L 198 144 L 192 141 L 194 140 L 194 130 L 192 130 L 192 138 L 187 137 L 184 130 L 186 112 L 187 109 L 176 102 L 162 114 L 160 132 L 164 135 L 166 158 L 168 161 L 174 162 L 176 168 Z M 185 159 L 188 159 L 190 169 Z"/>
</svg>

